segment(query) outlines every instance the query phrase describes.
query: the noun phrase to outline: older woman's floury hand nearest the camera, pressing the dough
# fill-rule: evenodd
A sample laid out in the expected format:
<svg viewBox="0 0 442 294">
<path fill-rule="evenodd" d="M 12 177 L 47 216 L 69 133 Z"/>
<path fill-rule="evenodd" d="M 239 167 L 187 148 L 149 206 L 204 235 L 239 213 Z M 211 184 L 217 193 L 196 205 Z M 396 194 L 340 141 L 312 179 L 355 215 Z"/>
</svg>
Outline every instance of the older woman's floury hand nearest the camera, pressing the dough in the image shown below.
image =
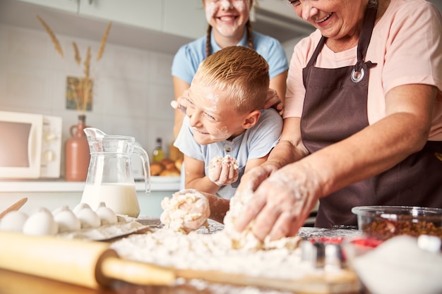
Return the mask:
<svg viewBox="0 0 442 294">
<path fill-rule="evenodd" d="M 264 176 L 265 173 L 261 178 Z M 256 186 L 256 182 L 249 183 L 249 188 Z M 320 192 L 311 166 L 301 162 L 289 164 L 263 180 L 254 192 L 253 202 L 244 207 L 235 228 L 241 232 L 254 219 L 252 232 L 259 240 L 267 235 L 270 240 L 293 236 L 304 225 Z"/>
</svg>

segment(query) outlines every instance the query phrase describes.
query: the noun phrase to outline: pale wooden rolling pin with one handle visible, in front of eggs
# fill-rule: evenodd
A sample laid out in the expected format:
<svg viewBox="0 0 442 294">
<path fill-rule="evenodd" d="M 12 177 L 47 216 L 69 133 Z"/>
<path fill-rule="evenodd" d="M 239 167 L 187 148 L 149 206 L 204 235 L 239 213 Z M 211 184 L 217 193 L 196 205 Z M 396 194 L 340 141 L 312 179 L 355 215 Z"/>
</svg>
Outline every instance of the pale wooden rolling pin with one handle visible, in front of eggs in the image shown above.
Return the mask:
<svg viewBox="0 0 442 294">
<path fill-rule="evenodd" d="M 174 271 L 119 259 L 109 243 L 0 232 L 0 268 L 88 288 L 112 280 L 172 285 Z"/>
</svg>

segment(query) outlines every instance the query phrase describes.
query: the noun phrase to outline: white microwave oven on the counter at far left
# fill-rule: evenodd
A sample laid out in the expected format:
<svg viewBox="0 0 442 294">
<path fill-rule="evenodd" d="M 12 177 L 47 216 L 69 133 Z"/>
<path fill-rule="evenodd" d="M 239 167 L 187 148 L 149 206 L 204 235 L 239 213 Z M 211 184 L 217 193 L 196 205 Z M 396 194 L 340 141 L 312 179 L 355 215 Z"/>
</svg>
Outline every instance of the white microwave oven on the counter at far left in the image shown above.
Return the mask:
<svg viewBox="0 0 442 294">
<path fill-rule="evenodd" d="M 61 117 L 0 111 L 0 179 L 59 178 Z"/>
</svg>

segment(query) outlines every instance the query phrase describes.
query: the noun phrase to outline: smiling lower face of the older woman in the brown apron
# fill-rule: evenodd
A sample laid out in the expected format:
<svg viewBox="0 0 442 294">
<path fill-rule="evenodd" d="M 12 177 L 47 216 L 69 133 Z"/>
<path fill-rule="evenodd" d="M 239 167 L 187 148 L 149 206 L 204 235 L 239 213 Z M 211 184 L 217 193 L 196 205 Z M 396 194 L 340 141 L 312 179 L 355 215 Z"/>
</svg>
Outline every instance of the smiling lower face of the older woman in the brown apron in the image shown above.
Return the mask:
<svg viewBox="0 0 442 294">
<path fill-rule="evenodd" d="M 359 37 L 368 0 L 289 0 L 300 18 L 333 40 Z"/>
</svg>

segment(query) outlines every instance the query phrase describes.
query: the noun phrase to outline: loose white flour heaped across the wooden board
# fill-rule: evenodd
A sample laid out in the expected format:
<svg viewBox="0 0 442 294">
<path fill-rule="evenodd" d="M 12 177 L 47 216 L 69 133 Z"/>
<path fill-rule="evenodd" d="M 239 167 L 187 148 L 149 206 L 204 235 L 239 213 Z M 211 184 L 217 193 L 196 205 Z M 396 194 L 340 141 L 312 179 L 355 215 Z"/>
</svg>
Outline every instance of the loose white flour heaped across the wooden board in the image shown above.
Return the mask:
<svg viewBox="0 0 442 294">
<path fill-rule="evenodd" d="M 313 269 L 309 262 L 301 261 L 299 248 L 234 249 L 224 230 L 210 234 L 193 231 L 186 235 L 160 228 L 154 233 L 131 235 L 112 243 L 111 247 L 125 259 L 177 269 L 217 270 L 270 278 L 299 278 L 320 271 Z"/>
</svg>

